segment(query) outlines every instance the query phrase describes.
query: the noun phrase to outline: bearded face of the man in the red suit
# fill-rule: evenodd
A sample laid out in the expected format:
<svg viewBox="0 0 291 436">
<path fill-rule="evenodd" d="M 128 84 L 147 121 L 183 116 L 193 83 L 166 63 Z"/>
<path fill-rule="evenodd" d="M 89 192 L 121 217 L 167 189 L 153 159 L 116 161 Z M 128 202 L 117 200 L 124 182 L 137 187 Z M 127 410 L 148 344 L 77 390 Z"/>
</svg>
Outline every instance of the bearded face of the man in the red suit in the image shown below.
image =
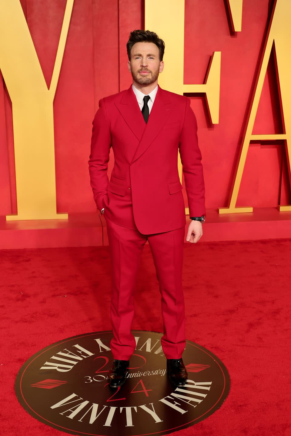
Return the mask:
<svg viewBox="0 0 291 436">
<path fill-rule="evenodd" d="M 163 71 L 164 62 L 159 59 L 159 49 L 153 42 L 136 42 L 131 48 L 128 69 L 132 78 L 140 85 L 155 82 Z"/>
</svg>

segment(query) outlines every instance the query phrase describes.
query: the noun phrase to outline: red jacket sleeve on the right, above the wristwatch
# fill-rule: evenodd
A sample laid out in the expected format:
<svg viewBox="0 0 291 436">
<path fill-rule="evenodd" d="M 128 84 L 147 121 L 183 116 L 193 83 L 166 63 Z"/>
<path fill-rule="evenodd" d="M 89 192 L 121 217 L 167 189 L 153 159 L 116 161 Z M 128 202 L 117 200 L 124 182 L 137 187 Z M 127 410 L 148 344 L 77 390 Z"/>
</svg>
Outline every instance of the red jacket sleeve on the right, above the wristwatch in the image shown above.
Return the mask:
<svg viewBox="0 0 291 436">
<path fill-rule="evenodd" d="M 189 217 L 205 215 L 205 185 L 202 155 L 198 146 L 197 121 L 187 97 L 184 125 L 179 140 L 179 153 L 188 197 Z"/>
</svg>

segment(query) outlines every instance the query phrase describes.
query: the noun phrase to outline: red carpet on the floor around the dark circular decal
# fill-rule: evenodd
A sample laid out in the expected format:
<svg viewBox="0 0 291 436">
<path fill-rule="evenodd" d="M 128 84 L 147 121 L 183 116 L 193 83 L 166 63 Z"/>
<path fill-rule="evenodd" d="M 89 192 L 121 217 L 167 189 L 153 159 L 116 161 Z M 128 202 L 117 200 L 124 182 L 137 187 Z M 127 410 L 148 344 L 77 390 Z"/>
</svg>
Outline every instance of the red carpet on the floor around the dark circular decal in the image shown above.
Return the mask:
<svg viewBox="0 0 291 436">
<path fill-rule="evenodd" d="M 18 403 L 22 364 L 60 339 L 111 330 L 108 246 L 0 251 L 1 434 L 66 435 Z M 182 436 L 291 436 L 291 239 L 185 244 L 186 338 L 216 354 L 229 396 Z M 133 329 L 162 331 L 160 296 L 145 246 Z M 154 304 L 153 304 L 154 302 Z"/>
</svg>

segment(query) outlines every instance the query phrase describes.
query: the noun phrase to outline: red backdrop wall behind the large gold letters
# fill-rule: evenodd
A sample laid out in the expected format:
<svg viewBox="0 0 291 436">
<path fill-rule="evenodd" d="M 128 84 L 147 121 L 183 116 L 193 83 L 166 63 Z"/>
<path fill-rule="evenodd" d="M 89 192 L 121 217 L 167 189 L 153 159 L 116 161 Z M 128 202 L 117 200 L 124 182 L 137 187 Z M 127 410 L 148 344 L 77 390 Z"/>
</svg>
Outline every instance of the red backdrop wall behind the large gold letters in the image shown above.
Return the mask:
<svg viewBox="0 0 291 436">
<path fill-rule="evenodd" d="M 21 5 L 49 86 L 65 1 L 21 0 Z M 244 1 L 242 32 L 234 34 L 225 1 L 185 1 L 184 83 L 203 83 L 211 54 L 222 53 L 219 124 L 210 123 L 203 95 L 187 94 L 198 122 L 208 209 L 228 205 L 272 6 L 273 0 Z M 54 102 L 58 212 L 96 210 L 88 172 L 92 119 L 100 98 L 126 89 L 132 83 L 126 43 L 130 31 L 144 28 L 143 10 L 140 0 L 74 2 Z M 167 41 L 165 46 L 167 50 Z M 272 58 L 253 133 L 282 133 Z M 111 150 L 109 176 L 113 161 Z M 184 195 L 187 206 L 185 190 Z M 252 143 L 236 205 L 275 207 L 280 203 L 290 204 L 290 199 L 283 143 Z M 2 78 L 0 215 L 16 211 L 12 105 Z"/>
</svg>

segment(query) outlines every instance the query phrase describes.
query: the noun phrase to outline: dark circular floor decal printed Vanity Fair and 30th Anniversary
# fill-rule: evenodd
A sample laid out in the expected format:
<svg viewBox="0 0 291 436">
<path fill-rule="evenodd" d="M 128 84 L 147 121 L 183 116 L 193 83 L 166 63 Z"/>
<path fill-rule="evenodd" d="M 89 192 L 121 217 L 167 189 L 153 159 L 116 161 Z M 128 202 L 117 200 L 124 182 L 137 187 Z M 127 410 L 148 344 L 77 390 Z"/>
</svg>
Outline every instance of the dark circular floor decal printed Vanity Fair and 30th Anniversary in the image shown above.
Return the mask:
<svg viewBox="0 0 291 436">
<path fill-rule="evenodd" d="M 172 385 L 162 333 L 132 330 L 136 340 L 127 380 L 110 388 L 112 331 L 69 337 L 45 347 L 17 374 L 17 399 L 31 416 L 77 435 L 163 435 L 192 426 L 217 410 L 229 393 L 224 364 L 186 341 L 186 385 Z"/>
</svg>

